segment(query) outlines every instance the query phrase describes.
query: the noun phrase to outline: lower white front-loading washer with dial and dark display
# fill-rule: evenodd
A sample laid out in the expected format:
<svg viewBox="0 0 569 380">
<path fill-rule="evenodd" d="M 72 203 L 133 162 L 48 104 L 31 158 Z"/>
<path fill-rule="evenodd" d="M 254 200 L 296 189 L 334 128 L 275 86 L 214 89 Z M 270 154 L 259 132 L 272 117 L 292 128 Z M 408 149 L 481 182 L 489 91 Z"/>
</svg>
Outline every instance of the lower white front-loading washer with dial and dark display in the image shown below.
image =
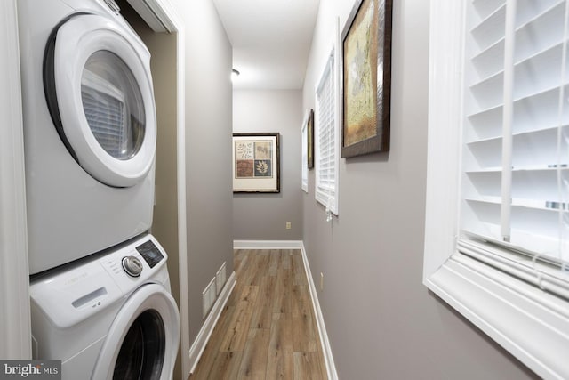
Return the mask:
<svg viewBox="0 0 569 380">
<path fill-rule="evenodd" d="M 33 356 L 63 380 L 172 379 L 180 317 L 167 255 L 145 235 L 32 281 Z"/>
</svg>

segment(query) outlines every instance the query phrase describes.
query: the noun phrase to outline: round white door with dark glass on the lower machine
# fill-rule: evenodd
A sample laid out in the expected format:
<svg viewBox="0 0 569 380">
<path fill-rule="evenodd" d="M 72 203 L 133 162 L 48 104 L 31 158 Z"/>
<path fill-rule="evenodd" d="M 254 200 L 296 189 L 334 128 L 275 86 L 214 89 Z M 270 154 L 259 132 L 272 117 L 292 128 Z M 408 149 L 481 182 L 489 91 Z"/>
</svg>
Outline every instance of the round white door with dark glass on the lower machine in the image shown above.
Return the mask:
<svg viewBox="0 0 569 380">
<path fill-rule="evenodd" d="M 164 287 L 140 287 L 108 331 L 92 374 L 102 379 L 172 379 L 180 342 L 180 317 Z"/>
</svg>

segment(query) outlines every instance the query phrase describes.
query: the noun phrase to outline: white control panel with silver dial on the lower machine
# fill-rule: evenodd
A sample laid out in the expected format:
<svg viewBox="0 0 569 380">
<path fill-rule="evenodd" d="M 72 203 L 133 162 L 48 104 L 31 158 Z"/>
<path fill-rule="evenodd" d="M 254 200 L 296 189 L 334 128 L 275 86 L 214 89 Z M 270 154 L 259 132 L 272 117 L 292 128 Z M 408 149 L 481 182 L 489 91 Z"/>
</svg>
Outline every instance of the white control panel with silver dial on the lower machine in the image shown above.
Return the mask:
<svg viewBox="0 0 569 380">
<path fill-rule="evenodd" d="M 103 256 L 34 280 L 30 296 L 53 326 L 67 328 L 123 299 L 146 283 L 168 284 L 168 255 L 148 234 Z"/>
</svg>

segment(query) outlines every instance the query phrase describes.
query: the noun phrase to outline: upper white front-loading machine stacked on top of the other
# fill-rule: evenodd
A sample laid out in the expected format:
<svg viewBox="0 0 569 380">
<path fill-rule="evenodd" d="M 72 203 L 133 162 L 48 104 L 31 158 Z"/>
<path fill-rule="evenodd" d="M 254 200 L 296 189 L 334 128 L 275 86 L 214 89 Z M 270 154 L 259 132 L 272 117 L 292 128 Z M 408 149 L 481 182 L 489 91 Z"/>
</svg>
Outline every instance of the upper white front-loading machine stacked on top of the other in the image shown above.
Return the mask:
<svg viewBox="0 0 569 380">
<path fill-rule="evenodd" d="M 149 229 L 150 54 L 112 0 L 20 0 L 30 273 Z"/>
</svg>

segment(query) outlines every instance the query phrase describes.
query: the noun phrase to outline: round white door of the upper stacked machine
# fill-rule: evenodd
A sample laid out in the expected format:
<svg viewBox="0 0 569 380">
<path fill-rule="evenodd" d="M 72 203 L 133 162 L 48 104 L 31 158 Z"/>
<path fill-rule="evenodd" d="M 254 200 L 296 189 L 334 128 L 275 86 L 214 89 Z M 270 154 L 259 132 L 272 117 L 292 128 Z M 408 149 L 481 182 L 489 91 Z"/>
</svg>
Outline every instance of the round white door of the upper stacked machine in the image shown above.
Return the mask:
<svg viewBox="0 0 569 380">
<path fill-rule="evenodd" d="M 57 132 L 76 162 L 108 186 L 137 184 L 154 162 L 149 61 L 132 30 L 96 14 L 63 20 L 45 49 L 44 92 Z"/>
</svg>

